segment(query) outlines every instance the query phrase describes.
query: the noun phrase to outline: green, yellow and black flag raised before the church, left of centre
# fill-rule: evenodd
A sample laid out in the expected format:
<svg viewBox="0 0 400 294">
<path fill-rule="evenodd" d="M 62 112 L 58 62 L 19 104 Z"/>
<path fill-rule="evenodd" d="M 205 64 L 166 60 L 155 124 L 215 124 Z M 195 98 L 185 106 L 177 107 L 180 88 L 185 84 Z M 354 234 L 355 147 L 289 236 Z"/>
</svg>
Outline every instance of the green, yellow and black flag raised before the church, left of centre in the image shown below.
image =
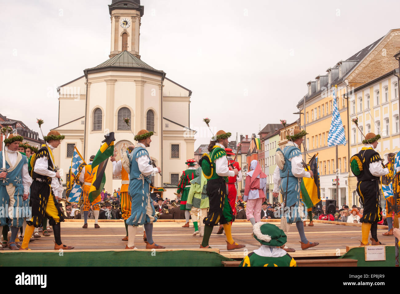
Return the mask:
<svg viewBox="0 0 400 294">
<path fill-rule="evenodd" d="M 93 202 L 97 196 L 100 195 L 103 190 L 104 184 L 106 183 L 106 166 L 108 158 L 114 155 L 114 132 L 106 134 L 104 143 L 98 150 L 96 156 L 93 159 L 92 169 L 97 166 L 97 171 L 93 175 L 92 186 L 89 190 L 89 201 Z"/>
</svg>

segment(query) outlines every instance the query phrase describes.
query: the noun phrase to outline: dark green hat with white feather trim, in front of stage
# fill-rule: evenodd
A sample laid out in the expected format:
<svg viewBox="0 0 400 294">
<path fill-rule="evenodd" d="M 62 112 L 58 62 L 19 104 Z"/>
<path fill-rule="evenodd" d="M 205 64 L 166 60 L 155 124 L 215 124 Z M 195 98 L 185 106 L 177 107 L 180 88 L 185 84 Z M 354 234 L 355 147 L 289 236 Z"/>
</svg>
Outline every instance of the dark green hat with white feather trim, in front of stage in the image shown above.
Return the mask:
<svg viewBox="0 0 400 294">
<path fill-rule="evenodd" d="M 284 231 L 268 222 L 257 222 L 253 226 L 253 236 L 258 242 L 267 246 L 279 247 L 287 240 Z"/>
</svg>

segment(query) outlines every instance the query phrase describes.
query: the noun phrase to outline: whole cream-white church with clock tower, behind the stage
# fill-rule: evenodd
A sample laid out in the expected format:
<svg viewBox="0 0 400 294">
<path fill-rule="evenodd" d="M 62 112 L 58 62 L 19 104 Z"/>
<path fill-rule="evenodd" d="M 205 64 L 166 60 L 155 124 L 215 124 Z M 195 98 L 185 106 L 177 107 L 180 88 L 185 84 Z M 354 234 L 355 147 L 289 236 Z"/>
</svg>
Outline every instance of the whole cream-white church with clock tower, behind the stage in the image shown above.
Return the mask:
<svg viewBox="0 0 400 294">
<path fill-rule="evenodd" d="M 140 18 L 144 7 L 140 0 L 113 0 L 111 16 L 110 59 L 84 75 L 58 88 L 59 117 L 57 130 L 65 135 L 55 153 L 64 174 L 69 170 L 74 146 L 86 162 L 97 153 L 104 135 L 115 133 L 114 154 L 135 144 L 139 130 L 154 131 L 148 148 L 150 156 L 162 169 L 154 177 L 156 187 L 164 187 L 164 198 L 175 198 L 176 181 L 185 169 L 184 162 L 194 154 L 194 133 L 190 130 L 189 104 L 192 91 L 168 79 L 140 59 Z M 104 188 L 112 193 L 121 185 L 112 179 L 112 164 L 106 169 Z"/>
</svg>

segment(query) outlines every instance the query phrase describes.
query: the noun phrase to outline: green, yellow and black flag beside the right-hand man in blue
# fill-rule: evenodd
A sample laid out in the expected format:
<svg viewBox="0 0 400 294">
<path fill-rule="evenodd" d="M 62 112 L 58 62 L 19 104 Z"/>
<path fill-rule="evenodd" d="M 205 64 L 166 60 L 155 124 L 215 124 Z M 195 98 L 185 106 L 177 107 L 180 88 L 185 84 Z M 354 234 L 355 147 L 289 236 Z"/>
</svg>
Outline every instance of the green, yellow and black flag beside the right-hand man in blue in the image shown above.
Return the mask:
<svg viewBox="0 0 400 294">
<path fill-rule="evenodd" d="M 318 153 L 312 156 L 305 170 L 312 170 L 314 176 L 312 178 L 303 178 L 300 184 L 300 190 L 303 202 L 306 204 L 307 208 L 312 208 L 315 204 L 321 201 Z"/>
</svg>

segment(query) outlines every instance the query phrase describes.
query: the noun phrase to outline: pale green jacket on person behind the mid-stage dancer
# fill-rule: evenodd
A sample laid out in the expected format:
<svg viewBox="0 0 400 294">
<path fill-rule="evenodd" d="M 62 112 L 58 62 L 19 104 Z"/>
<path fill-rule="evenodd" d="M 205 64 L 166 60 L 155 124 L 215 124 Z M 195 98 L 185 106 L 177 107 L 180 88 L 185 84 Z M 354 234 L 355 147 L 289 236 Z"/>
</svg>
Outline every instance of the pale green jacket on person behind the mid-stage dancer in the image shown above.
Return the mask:
<svg viewBox="0 0 400 294">
<path fill-rule="evenodd" d="M 208 202 L 208 194 L 206 192 L 207 179 L 204 177 L 201 167 L 196 169 L 196 175 L 197 178 L 190 181 L 186 209 L 192 209 L 192 206 L 196 208 L 209 208 L 210 203 Z"/>
</svg>

